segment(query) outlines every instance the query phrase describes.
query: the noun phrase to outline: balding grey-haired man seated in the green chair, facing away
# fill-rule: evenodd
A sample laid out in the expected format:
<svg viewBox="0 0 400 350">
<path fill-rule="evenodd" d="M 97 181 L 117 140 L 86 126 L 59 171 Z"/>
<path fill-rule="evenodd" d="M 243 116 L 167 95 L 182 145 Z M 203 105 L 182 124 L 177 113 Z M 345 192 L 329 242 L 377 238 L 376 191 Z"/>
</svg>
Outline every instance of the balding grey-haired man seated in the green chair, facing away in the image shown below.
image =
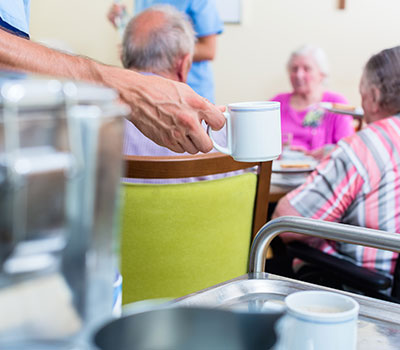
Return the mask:
<svg viewBox="0 0 400 350">
<path fill-rule="evenodd" d="M 145 75 L 158 75 L 186 83 L 191 67 L 195 33 L 185 14 L 170 5 L 156 5 L 128 23 L 122 47 L 125 68 Z M 225 132 L 215 133 L 223 143 Z M 125 122 L 124 154 L 171 156 L 177 153 L 145 137 L 131 122 Z"/>
</svg>

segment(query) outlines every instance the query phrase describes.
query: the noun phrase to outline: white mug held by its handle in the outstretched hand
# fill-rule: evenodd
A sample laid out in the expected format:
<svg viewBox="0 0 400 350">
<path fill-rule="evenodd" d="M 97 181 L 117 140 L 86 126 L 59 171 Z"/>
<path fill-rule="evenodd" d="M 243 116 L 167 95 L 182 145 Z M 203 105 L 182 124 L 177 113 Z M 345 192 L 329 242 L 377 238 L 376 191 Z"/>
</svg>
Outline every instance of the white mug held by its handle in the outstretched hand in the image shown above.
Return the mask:
<svg viewBox="0 0 400 350">
<path fill-rule="evenodd" d="M 276 159 L 282 152 L 279 102 L 241 102 L 228 105 L 227 146 L 215 142 L 211 128 L 207 132 L 214 148 L 237 161 L 259 162 Z"/>
</svg>

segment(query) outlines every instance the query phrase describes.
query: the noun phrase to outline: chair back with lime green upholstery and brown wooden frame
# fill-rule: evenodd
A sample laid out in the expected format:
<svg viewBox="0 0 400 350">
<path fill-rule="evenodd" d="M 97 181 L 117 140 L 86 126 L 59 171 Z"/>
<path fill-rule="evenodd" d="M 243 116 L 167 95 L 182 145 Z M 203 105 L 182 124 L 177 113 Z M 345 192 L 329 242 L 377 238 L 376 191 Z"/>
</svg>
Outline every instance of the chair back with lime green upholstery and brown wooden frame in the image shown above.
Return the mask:
<svg viewBox="0 0 400 350">
<path fill-rule="evenodd" d="M 125 157 L 128 179 L 244 169 L 253 171 L 190 183 L 123 183 L 123 304 L 177 298 L 247 273 L 252 237 L 267 219 L 271 176 L 271 161 L 236 162 L 218 152 Z"/>
</svg>

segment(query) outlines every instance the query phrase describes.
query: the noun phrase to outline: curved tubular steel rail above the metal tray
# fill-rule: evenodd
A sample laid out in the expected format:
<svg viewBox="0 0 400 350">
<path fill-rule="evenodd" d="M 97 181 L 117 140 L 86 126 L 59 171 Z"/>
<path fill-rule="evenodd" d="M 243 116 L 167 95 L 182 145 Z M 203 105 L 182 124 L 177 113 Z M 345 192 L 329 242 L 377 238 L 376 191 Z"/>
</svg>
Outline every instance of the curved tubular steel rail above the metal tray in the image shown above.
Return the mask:
<svg viewBox="0 0 400 350">
<path fill-rule="evenodd" d="M 283 216 L 271 220 L 258 231 L 251 247 L 249 272 L 265 271 L 267 249 L 272 240 L 283 232 L 301 233 L 333 241 L 400 252 L 400 234 L 397 233 L 297 216 Z"/>
</svg>

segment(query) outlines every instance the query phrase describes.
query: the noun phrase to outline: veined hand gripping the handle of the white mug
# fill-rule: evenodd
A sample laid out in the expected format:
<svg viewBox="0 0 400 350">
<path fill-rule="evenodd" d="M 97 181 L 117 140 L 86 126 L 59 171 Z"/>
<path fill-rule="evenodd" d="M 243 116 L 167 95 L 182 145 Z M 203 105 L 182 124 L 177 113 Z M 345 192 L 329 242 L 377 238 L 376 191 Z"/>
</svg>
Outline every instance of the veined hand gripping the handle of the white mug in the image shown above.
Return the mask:
<svg viewBox="0 0 400 350">
<path fill-rule="evenodd" d="M 106 85 L 119 91 L 131 107 L 131 121 L 144 135 L 179 153 L 209 152 L 213 148 L 201 122 L 221 129 L 225 107 L 214 106 L 183 83 L 115 67 L 109 70 L 112 73 L 104 76 Z"/>
</svg>

